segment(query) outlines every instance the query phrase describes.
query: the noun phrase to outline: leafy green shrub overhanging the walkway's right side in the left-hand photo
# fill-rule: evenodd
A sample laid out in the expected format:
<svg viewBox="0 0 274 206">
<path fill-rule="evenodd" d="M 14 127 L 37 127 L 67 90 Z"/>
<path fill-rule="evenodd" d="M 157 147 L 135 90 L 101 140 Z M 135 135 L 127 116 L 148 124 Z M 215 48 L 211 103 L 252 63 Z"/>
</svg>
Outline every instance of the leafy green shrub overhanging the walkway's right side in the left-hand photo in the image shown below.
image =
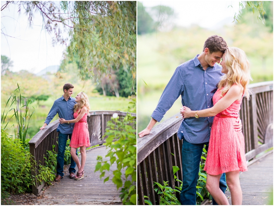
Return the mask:
<svg viewBox="0 0 274 206">
<path fill-rule="evenodd" d="M 129 111 L 136 111 L 136 97 L 132 98 L 128 107 Z M 136 190 L 136 130 L 129 125 L 129 123 L 136 123 L 136 118 L 128 114 L 122 120 L 118 118 L 111 118 L 112 121 L 107 122 L 107 129 L 105 135 L 106 147 L 108 153 L 106 157 L 110 158 L 108 161 L 103 161 L 101 156 L 97 157 L 97 165 L 95 171 L 100 171 L 100 178 L 104 177 L 104 170 L 109 171 L 110 165 L 115 161 L 117 169 L 112 171 L 114 177 L 112 182 L 116 184 L 117 190 L 121 187 L 120 198 L 125 205 L 136 205 L 137 190 Z M 114 143 L 112 140 L 117 139 Z M 121 177 L 121 169 L 125 169 L 125 178 Z M 130 176 L 130 178 L 128 178 Z M 125 181 L 124 184 L 122 179 Z M 109 176 L 104 179 L 104 183 L 109 180 Z"/>
</svg>

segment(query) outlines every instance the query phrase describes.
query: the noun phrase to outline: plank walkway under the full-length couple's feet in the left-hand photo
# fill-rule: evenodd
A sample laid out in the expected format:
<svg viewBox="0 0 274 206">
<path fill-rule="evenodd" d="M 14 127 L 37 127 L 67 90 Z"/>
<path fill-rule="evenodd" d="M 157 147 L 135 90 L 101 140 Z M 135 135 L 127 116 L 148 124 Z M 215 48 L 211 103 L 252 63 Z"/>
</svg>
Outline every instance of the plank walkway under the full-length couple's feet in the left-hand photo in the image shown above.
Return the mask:
<svg viewBox="0 0 274 206">
<path fill-rule="evenodd" d="M 111 175 L 109 181 L 105 183 L 104 177 L 100 180 L 100 172 L 94 173 L 97 156 L 100 155 L 103 157 L 103 160 L 106 160 L 109 159 L 105 158 L 106 154 L 107 150 L 105 146 L 88 150 L 86 152 L 84 179 L 70 179 L 67 167 L 64 169 L 65 175 L 63 179 L 44 191 L 44 198 L 38 200 L 37 205 L 121 205 L 119 191 L 117 191 L 116 185 L 111 181 L 113 177 L 111 170 L 116 169 L 116 163 L 111 166 L 109 172 L 105 172 L 105 177 Z"/>
</svg>

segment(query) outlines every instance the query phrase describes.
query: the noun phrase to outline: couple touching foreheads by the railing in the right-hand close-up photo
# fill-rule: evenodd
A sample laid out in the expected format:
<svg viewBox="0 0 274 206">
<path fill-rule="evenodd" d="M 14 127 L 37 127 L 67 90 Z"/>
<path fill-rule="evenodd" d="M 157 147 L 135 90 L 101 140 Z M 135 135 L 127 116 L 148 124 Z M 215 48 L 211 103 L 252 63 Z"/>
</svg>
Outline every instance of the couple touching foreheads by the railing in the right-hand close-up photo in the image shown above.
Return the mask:
<svg viewBox="0 0 274 206">
<path fill-rule="evenodd" d="M 183 141 L 182 205 L 196 204 L 196 184 L 204 145 L 208 151 L 204 167 L 206 188 L 213 197 L 213 205 L 229 204 L 224 194 L 227 186 L 232 204 L 242 204 L 239 172 L 247 171 L 247 164 L 239 111 L 244 92 L 249 98 L 249 80 L 249 62 L 244 51 L 227 47 L 220 36 L 211 36 L 205 41 L 200 55 L 177 67 L 148 126 L 139 133 L 139 137 L 149 134 L 156 121 L 160 122 L 181 95 L 180 113 L 184 120 L 177 136 Z"/>
</svg>

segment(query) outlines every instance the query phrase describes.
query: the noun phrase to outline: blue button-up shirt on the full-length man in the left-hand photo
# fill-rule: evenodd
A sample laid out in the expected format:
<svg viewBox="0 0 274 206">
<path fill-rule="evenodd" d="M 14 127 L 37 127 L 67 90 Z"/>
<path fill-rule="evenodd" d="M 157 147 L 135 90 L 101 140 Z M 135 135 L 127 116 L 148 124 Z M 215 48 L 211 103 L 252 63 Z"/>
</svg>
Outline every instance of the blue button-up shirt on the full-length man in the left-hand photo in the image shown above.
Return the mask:
<svg viewBox="0 0 274 206">
<path fill-rule="evenodd" d="M 63 97 L 63 95 L 56 99 L 51 107 L 51 110 L 49 111 L 47 118 L 44 123 L 47 125 L 51 122 L 51 120 L 54 118 L 56 114 L 60 118 L 63 118 L 65 120 L 72 120 L 73 118 L 73 106 L 76 104 L 75 98 L 68 98 L 68 101 L 66 101 Z M 65 124 L 59 124 L 57 128 L 59 128 L 60 133 L 62 134 L 72 134 L 72 130 L 74 127 L 74 123 L 65 123 Z"/>
</svg>

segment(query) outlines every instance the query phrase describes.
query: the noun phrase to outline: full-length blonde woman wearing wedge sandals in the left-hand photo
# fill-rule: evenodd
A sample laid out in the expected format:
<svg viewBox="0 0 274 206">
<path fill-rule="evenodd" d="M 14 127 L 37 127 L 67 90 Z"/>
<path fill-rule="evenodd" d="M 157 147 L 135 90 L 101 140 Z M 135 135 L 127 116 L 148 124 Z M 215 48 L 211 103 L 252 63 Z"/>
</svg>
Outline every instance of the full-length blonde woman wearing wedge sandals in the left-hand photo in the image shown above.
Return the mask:
<svg viewBox="0 0 274 206">
<path fill-rule="evenodd" d="M 74 179 L 79 180 L 84 178 L 84 166 L 86 162 L 86 147 L 90 146 L 89 130 L 86 127 L 87 115 L 89 115 L 90 104 L 87 95 L 84 92 L 80 92 L 75 97 L 76 104 L 74 105 L 73 117 L 75 119 L 65 120 L 59 119 L 61 124 L 75 123 L 72 137 L 70 141 L 70 155 L 78 167 L 78 172 Z M 81 165 L 76 155 L 77 148 L 80 147 L 81 152 Z"/>
</svg>

